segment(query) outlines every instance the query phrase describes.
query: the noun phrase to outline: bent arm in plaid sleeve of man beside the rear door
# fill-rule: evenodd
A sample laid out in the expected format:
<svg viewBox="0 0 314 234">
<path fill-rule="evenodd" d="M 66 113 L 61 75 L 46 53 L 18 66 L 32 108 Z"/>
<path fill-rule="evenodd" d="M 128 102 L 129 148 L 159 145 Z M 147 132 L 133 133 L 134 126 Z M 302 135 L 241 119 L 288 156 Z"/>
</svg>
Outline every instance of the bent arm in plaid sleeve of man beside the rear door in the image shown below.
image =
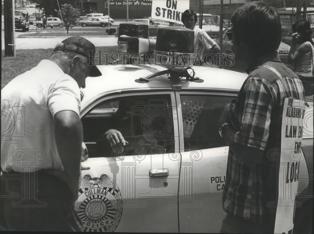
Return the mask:
<svg viewBox="0 0 314 234">
<path fill-rule="evenodd" d="M 264 151 L 260 148 L 265 147 L 268 140 L 271 110 L 274 105 L 273 96 L 276 94 L 265 79 L 254 77 L 246 81 L 244 90 L 246 90 L 246 104 L 244 105 L 240 131 L 236 132 L 231 124 L 229 104 L 225 106 L 221 113 L 219 127 L 225 122 L 229 124 L 222 128 L 226 143 L 244 165 L 253 167 L 262 161 L 264 155 Z M 252 99 L 252 97 L 254 98 Z M 253 145 L 256 145 L 256 147 L 248 146 L 249 144 L 252 145 L 252 142 L 250 142 L 252 137 L 248 137 L 252 135 L 251 132 L 254 132 L 256 139 Z M 237 142 L 242 144 L 237 143 L 236 138 Z"/>
</svg>

